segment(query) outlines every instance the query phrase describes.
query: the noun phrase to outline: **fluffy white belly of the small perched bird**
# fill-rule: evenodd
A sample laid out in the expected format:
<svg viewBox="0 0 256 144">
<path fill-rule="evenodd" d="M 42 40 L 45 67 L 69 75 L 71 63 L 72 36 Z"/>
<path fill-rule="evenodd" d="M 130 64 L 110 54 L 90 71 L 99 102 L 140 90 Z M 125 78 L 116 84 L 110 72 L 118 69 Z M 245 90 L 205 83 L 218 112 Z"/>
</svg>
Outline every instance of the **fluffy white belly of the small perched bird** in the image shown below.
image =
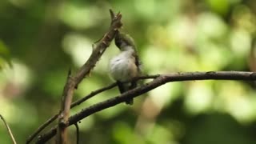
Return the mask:
<svg viewBox="0 0 256 144">
<path fill-rule="evenodd" d="M 136 77 L 138 69 L 132 59 L 116 57 L 110 61 L 110 74 L 114 80 L 125 82 Z"/>
</svg>

